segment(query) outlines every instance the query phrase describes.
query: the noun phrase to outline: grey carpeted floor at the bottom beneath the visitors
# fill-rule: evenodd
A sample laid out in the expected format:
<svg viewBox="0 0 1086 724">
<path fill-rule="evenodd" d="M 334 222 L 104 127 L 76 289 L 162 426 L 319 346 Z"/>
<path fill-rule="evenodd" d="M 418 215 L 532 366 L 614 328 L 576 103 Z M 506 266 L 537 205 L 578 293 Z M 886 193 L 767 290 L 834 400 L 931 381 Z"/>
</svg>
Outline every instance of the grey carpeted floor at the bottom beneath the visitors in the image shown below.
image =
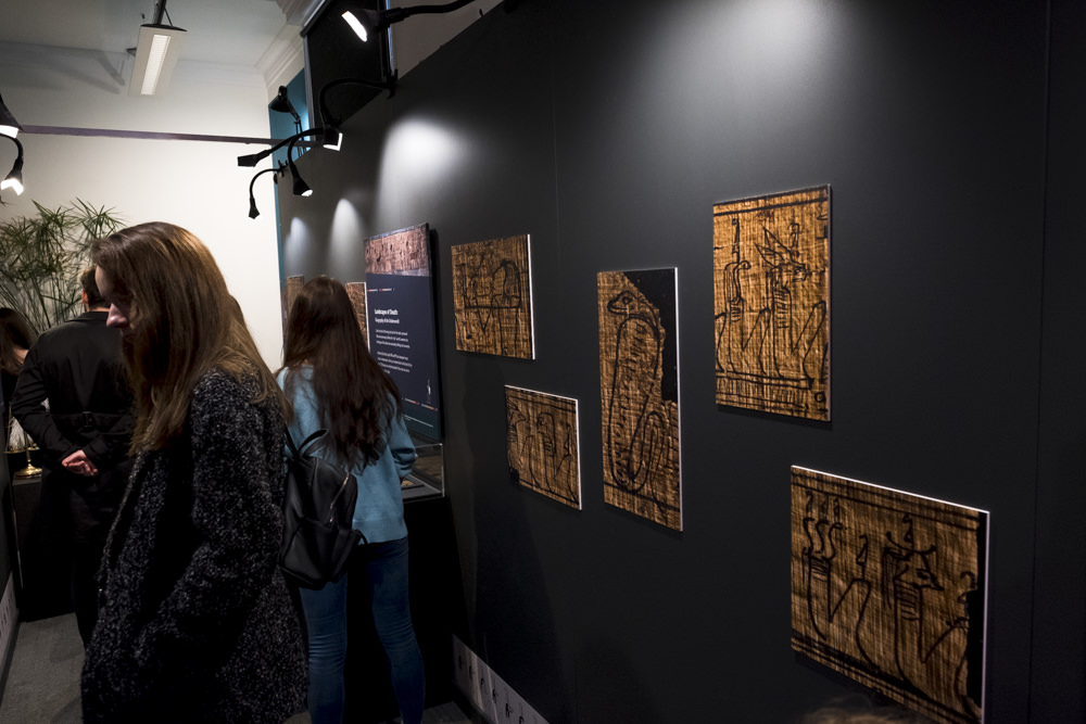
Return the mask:
<svg viewBox="0 0 1086 724">
<path fill-rule="evenodd" d="M 81 724 L 81 669 L 83 643 L 75 614 L 20 624 L 0 700 L 0 722 Z M 299 714 L 287 724 L 310 724 L 310 715 Z M 471 720 L 455 703 L 445 703 L 427 709 L 422 724 L 471 724 Z"/>
</svg>

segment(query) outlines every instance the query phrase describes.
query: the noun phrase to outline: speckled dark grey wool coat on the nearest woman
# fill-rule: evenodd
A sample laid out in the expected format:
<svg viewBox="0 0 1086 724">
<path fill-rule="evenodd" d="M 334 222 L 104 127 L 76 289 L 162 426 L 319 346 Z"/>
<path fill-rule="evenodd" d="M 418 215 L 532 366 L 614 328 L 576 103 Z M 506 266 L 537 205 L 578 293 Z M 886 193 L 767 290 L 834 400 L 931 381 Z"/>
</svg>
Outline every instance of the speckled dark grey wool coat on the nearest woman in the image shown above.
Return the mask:
<svg viewBox="0 0 1086 724">
<path fill-rule="evenodd" d="M 277 566 L 283 420 L 212 370 L 188 429 L 140 454 L 106 543 L 84 722 L 276 723 L 302 708 L 299 614 Z"/>
</svg>

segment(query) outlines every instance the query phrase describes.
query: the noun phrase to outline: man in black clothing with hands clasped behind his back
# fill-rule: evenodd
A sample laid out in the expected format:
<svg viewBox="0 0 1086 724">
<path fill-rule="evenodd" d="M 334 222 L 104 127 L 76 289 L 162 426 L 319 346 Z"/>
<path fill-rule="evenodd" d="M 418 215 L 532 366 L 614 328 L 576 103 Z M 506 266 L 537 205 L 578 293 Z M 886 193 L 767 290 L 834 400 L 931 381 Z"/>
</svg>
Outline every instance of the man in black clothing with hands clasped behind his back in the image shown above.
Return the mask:
<svg viewBox="0 0 1086 724">
<path fill-rule="evenodd" d="M 105 326 L 109 305 L 94 283 L 94 269 L 85 270 L 80 281 L 87 310 L 53 327 L 30 347 L 12 412 L 45 453 L 43 539 L 38 543 L 47 548 L 36 562 L 71 559 L 72 605 L 86 646 L 98 618 L 94 576 L 131 472 L 134 420 L 121 332 Z M 62 549 L 55 550 L 65 541 L 71 546 L 64 550 L 60 543 Z M 54 550 L 55 556 L 49 555 Z M 47 577 L 37 573 L 43 585 Z"/>
</svg>

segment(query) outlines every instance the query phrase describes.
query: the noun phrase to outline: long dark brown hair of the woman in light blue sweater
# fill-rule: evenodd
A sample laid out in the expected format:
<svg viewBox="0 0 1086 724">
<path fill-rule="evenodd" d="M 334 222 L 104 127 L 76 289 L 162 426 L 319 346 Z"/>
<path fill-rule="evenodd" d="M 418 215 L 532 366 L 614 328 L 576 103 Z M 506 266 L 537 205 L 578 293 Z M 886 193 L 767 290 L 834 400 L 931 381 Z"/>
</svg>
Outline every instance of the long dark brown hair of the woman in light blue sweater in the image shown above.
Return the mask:
<svg viewBox="0 0 1086 724">
<path fill-rule="evenodd" d="M 287 319 L 283 369 L 288 394 L 298 368 L 313 366 L 313 392 L 332 449 L 354 466 L 380 457 L 381 431 L 401 412 L 400 390 L 366 348 L 343 284 L 305 282 Z M 301 441 L 299 441 L 301 442 Z"/>
</svg>

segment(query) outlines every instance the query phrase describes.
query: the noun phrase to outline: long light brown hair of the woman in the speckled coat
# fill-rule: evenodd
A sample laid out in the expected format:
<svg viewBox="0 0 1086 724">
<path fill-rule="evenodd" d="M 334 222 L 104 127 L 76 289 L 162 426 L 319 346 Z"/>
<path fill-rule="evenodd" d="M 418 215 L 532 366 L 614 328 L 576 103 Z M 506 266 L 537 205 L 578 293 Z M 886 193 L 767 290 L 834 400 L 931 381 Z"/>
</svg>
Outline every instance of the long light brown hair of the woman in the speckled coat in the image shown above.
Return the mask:
<svg viewBox="0 0 1086 724">
<path fill-rule="evenodd" d="M 212 368 L 254 376 L 260 392 L 285 401 L 261 358 L 207 247 L 172 224 L 140 224 L 99 239 L 91 259 L 111 281 L 111 302 L 128 307 L 125 363 L 136 401 L 132 450 L 165 447 L 185 431 L 192 390 Z"/>
</svg>

